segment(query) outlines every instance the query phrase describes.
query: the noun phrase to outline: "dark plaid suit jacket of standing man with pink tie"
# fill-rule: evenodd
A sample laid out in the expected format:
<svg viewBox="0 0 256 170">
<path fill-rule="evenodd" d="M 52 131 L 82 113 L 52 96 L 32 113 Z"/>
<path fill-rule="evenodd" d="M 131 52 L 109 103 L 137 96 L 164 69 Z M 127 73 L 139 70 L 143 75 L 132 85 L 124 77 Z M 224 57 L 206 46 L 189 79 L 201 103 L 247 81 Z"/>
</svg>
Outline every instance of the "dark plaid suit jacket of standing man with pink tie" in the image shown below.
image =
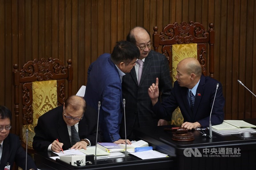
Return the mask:
<svg viewBox="0 0 256 170">
<path fill-rule="evenodd" d="M 135 68 L 123 77 L 122 91 L 126 101 L 126 134 L 129 138 L 133 125 L 138 116 L 140 127 L 157 126 L 158 118 L 150 109 L 151 100 L 148 96 L 148 88 L 152 83 L 156 83 L 159 78 L 159 90 L 162 92 L 161 99 L 171 94 L 172 82 L 170 68 L 166 57 L 156 51 L 150 50 L 145 58 L 140 85 L 136 77 Z M 160 100 L 160 97 L 159 97 Z M 124 121 L 120 129 L 121 137 L 124 137 Z"/>
</svg>

